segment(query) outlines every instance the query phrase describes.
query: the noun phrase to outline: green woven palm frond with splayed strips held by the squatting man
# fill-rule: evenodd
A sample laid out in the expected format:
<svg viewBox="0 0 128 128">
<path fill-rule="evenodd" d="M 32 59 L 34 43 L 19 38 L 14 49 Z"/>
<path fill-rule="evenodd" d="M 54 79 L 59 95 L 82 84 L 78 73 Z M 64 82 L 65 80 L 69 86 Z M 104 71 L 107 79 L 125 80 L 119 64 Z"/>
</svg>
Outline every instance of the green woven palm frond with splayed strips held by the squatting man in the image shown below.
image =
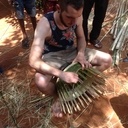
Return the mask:
<svg viewBox="0 0 128 128">
<path fill-rule="evenodd" d="M 105 75 L 94 68 L 82 70 L 80 64 L 71 64 L 64 71 L 76 72 L 79 81 L 68 84 L 57 80 L 57 91 L 61 101 L 62 111 L 72 114 L 87 107 L 95 98 L 104 93 Z"/>
</svg>

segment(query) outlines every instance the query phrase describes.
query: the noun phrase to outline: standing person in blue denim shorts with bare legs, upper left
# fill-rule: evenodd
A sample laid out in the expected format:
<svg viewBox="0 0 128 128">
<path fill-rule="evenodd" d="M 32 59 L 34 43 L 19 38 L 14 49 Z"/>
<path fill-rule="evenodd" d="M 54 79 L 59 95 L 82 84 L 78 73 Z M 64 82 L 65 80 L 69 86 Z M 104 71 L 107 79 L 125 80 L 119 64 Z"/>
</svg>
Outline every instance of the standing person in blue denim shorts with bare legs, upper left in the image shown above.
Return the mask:
<svg viewBox="0 0 128 128">
<path fill-rule="evenodd" d="M 13 4 L 16 17 L 18 19 L 23 39 L 22 39 L 22 47 L 29 48 L 29 39 L 27 36 L 27 32 L 25 30 L 24 24 L 24 9 L 27 11 L 28 15 L 30 16 L 33 29 L 36 28 L 36 7 L 35 7 L 35 0 L 8 0 L 10 4 Z"/>
</svg>

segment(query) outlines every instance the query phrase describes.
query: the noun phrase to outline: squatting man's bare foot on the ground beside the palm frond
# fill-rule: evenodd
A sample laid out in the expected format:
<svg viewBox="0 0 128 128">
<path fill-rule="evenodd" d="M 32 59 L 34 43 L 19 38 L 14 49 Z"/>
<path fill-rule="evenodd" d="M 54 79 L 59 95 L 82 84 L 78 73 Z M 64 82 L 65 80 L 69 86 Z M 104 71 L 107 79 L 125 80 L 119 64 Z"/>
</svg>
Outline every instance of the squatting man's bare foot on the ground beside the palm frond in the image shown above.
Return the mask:
<svg viewBox="0 0 128 128">
<path fill-rule="evenodd" d="M 59 99 L 56 99 L 52 105 L 52 115 L 54 117 L 62 117 L 63 116 Z"/>
</svg>

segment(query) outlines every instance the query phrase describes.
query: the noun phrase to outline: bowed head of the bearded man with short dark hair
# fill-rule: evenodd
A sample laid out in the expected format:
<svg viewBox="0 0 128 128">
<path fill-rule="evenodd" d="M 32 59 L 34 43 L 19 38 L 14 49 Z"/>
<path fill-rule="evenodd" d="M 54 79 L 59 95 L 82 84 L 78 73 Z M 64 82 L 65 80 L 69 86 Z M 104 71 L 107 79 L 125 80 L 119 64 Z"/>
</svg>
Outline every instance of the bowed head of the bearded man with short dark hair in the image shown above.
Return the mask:
<svg viewBox="0 0 128 128">
<path fill-rule="evenodd" d="M 72 26 L 76 19 L 82 15 L 84 0 L 59 0 L 57 11 L 65 27 Z"/>
</svg>

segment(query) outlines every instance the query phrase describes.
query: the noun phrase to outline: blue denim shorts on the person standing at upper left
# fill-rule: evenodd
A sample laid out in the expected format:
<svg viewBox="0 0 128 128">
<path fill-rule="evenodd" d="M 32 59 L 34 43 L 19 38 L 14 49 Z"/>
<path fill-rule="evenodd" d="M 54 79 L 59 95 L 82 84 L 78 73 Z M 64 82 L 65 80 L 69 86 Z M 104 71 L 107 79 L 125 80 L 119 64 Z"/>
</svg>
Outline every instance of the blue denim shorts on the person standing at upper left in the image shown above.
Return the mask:
<svg viewBox="0 0 128 128">
<path fill-rule="evenodd" d="M 30 17 L 35 17 L 36 15 L 36 0 L 15 0 L 14 9 L 17 19 L 24 18 L 24 9 Z"/>
</svg>

